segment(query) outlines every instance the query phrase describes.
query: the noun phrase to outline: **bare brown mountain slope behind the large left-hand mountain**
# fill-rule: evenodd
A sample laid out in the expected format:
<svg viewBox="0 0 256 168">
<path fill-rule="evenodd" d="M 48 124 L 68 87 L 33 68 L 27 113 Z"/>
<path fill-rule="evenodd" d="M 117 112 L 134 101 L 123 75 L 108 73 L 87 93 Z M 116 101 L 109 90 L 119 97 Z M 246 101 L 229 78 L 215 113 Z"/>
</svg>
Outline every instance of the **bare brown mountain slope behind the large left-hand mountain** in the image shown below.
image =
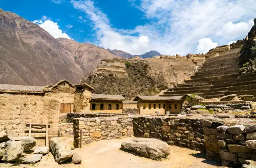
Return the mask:
<svg viewBox="0 0 256 168">
<path fill-rule="evenodd" d="M 57 40 L 73 55 L 76 63 L 83 70 L 84 76 L 92 74 L 101 60 L 121 58 L 106 49 L 90 43 L 78 43 L 66 38 L 58 38 Z"/>
</svg>

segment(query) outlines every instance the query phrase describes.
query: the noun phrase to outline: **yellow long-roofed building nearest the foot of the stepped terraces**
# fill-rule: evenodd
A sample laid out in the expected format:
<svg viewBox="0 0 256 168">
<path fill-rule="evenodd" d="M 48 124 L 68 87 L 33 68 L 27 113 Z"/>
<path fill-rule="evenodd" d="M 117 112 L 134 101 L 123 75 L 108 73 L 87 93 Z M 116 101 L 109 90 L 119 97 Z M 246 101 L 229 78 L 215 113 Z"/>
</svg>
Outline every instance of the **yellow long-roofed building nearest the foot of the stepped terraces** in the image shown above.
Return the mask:
<svg viewBox="0 0 256 168">
<path fill-rule="evenodd" d="M 137 96 L 137 107 L 140 114 L 179 114 L 184 101 L 183 96 Z"/>
</svg>

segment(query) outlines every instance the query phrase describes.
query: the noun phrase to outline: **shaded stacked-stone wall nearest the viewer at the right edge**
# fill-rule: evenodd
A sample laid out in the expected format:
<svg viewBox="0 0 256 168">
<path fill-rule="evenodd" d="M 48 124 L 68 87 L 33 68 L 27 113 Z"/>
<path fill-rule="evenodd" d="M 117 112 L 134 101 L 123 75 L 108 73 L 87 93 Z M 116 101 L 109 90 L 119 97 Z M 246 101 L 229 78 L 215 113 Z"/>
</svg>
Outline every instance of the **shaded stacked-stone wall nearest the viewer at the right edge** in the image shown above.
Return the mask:
<svg viewBox="0 0 256 168">
<path fill-rule="evenodd" d="M 245 160 L 256 160 L 256 125 L 224 126 L 203 121 L 206 159 L 220 160 L 223 166 L 236 166 Z"/>
</svg>

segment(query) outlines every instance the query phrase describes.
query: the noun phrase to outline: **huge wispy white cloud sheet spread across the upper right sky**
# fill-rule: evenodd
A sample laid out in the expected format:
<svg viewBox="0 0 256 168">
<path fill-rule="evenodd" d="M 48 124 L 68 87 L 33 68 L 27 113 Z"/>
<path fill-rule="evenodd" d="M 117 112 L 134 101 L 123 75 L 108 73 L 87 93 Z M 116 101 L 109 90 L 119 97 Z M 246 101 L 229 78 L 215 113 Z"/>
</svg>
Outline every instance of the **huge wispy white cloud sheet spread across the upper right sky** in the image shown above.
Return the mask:
<svg viewBox="0 0 256 168">
<path fill-rule="evenodd" d="M 141 54 L 157 50 L 162 54 L 186 55 L 195 52 L 198 41 L 199 51 L 208 46 L 220 45 L 234 40 L 234 34 L 222 38 L 216 32 L 223 32 L 226 23 L 236 23 L 235 27 L 251 20 L 256 15 L 256 1 L 251 0 L 130 0 L 150 19 L 145 25 L 138 25 L 133 30 L 118 30 L 113 27 L 108 17 L 94 6 L 92 0 L 71 0 L 74 8 L 83 11 L 93 22 L 97 43 L 101 47 L 121 49 L 131 54 Z M 139 5 L 138 5 L 139 4 Z M 235 14 L 234 14 L 235 13 Z M 248 27 L 250 22 L 248 23 Z M 244 26 L 242 26 L 244 27 Z M 224 29 L 225 30 L 225 29 Z M 248 32 L 248 31 L 247 31 Z M 244 38 L 245 30 L 237 31 L 235 38 Z M 237 40 L 237 39 L 236 39 Z"/>
</svg>

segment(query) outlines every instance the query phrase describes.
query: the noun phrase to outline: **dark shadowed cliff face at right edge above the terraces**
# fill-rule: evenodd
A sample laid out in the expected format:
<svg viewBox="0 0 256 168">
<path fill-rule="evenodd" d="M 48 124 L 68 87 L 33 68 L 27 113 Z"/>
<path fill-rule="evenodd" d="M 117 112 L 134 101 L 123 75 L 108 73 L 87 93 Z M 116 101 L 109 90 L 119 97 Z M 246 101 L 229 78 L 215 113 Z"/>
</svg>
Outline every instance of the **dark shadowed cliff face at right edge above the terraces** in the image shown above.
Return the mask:
<svg viewBox="0 0 256 168">
<path fill-rule="evenodd" d="M 254 25 L 248 33 L 248 40 L 241 49 L 240 70 L 243 73 L 256 71 L 256 18 L 253 21 Z"/>
</svg>

